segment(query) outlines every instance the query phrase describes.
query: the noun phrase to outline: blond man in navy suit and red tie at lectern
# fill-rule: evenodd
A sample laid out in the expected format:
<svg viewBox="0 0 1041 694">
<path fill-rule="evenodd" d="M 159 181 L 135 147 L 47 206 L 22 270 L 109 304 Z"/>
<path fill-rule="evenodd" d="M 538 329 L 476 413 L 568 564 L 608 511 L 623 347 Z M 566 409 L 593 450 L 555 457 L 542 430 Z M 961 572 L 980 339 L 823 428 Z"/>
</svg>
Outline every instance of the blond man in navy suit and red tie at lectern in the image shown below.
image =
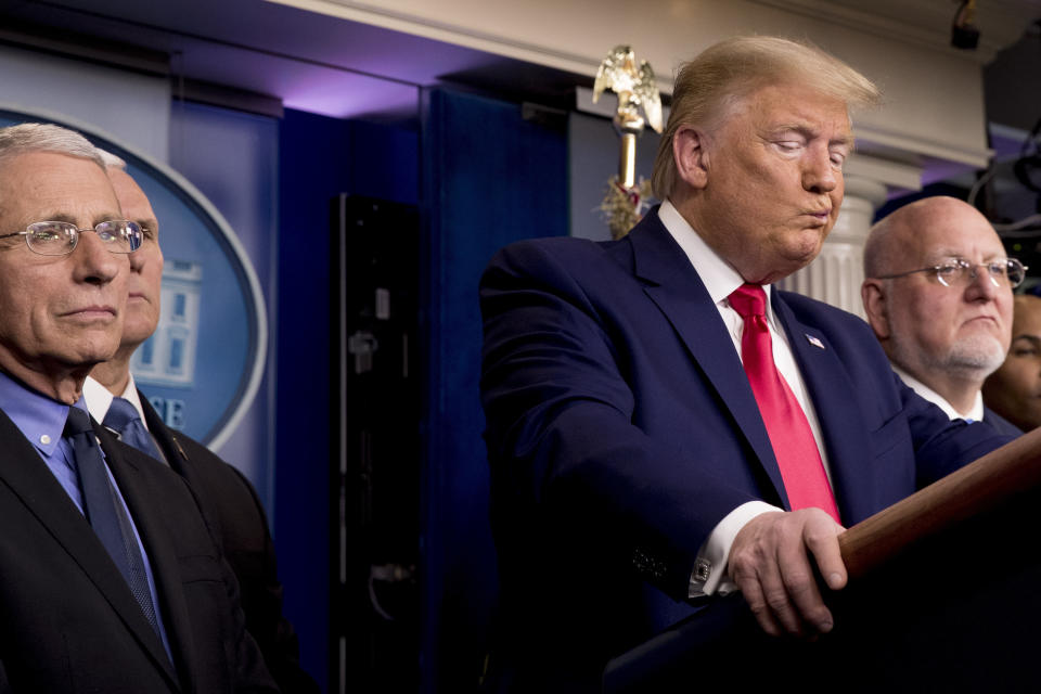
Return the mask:
<svg viewBox="0 0 1041 694">
<path fill-rule="evenodd" d="M 827 632 L 813 574 L 845 586 L 843 526 L 1007 440 L 904 387 L 860 319 L 769 286 L 818 255 L 847 108 L 876 99 L 817 49 L 723 41 L 677 76 L 658 208 L 616 242 L 491 260 L 504 689 L 595 691 L 609 657 L 735 589 L 771 634 Z"/>
</svg>

